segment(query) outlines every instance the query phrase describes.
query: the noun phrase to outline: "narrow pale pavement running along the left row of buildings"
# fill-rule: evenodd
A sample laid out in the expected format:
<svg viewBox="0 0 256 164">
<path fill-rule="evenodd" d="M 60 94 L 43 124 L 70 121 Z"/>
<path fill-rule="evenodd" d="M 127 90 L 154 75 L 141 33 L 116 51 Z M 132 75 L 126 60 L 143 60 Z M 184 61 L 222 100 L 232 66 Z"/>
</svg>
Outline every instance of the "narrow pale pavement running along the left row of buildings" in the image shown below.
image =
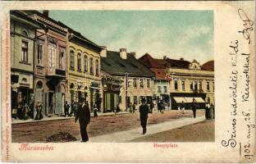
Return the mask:
<svg viewBox="0 0 256 164">
<path fill-rule="evenodd" d="M 128 114 L 130 112 L 118 112 L 118 115 L 121 114 Z M 109 115 L 115 115 L 114 112 L 98 112 L 98 116 L 109 116 Z M 90 114 L 91 117 L 94 116 L 94 113 L 91 112 Z M 67 119 L 75 119 L 74 116 L 44 116 L 42 120 L 33 120 L 33 119 L 27 119 L 27 120 L 19 120 L 19 119 L 11 119 L 11 124 L 24 124 L 24 123 L 29 123 L 29 122 L 42 122 L 42 121 L 58 121 L 58 120 L 67 120 Z"/>
</svg>

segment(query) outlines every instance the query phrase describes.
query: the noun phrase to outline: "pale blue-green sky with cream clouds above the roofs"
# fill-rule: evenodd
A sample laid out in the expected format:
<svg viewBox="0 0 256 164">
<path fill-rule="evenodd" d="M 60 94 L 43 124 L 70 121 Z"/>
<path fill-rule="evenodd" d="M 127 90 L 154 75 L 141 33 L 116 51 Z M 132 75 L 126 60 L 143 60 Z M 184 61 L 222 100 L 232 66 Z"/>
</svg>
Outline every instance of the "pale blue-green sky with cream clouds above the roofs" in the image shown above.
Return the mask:
<svg viewBox="0 0 256 164">
<path fill-rule="evenodd" d="M 107 50 L 200 64 L 213 60 L 213 11 L 49 11 L 49 16 Z"/>
</svg>

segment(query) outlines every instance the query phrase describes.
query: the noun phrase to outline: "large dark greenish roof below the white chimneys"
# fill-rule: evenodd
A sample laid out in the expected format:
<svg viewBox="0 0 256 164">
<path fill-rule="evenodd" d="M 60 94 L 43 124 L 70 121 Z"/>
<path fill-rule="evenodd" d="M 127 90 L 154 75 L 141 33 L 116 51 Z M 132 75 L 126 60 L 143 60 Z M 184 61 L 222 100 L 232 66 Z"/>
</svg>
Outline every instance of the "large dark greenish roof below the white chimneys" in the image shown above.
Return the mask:
<svg viewBox="0 0 256 164">
<path fill-rule="evenodd" d="M 127 52 L 127 59 L 122 59 L 119 52 L 107 51 L 107 57 L 101 57 L 101 68 L 110 75 L 153 77 L 153 72 Z"/>
</svg>

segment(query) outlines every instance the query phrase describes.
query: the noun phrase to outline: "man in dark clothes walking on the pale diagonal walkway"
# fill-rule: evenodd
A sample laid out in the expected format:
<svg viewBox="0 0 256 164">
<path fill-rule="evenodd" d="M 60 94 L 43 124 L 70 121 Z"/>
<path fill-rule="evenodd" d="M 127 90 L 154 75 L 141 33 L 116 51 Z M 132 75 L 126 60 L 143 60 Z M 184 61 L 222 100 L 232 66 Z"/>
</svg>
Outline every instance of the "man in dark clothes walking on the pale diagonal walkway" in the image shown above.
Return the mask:
<svg viewBox="0 0 256 164">
<path fill-rule="evenodd" d="M 146 100 L 142 98 L 141 103 L 142 105 L 139 106 L 139 119 L 140 125 L 142 126 L 143 132 L 142 134 L 147 133 L 147 121 L 149 115 L 149 106 L 145 104 Z"/>
</svg>

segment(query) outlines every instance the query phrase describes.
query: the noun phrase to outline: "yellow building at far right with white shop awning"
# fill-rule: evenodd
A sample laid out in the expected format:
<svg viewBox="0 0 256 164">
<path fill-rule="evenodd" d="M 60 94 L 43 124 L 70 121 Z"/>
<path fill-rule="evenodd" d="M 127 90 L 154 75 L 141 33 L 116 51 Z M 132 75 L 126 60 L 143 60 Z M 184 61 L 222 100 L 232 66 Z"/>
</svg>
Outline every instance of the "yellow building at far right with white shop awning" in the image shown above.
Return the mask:
<svg viewBox="0 0 256 164">
<path fill-rule="evenodd" d="M 187 62 L 167 59 L 170 63 L 167 68 L 170 83 L 171 108 L 177 108 L 179 103 L 190 104 L 193 100 L 204 107 L 205 103 L 214 105 L 214 65 L 209 61 L 203 66 L 199 62 Z M 174 63 L 178 63 L 177 66 Z M 188 105 L 189 107 L 189 105 Z"/>
</svg>

